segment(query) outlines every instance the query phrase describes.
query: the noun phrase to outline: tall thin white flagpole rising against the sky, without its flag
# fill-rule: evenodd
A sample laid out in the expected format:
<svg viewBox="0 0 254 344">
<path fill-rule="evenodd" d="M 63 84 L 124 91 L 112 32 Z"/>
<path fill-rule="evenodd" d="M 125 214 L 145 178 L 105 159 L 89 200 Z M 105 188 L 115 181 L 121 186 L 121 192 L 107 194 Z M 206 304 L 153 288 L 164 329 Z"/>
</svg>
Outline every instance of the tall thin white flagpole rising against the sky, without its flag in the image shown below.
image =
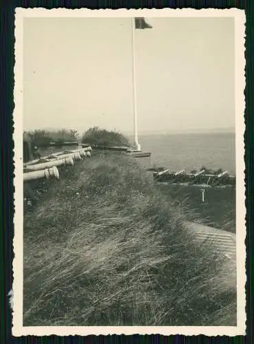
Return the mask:
<svg viewBox="0 0 254 344">
<path fill-rule="evenodd" d="M 136 61 L 135 61 L 135 18 L 131 19 L 132 23 L 132 83 L 133 83 L 133 113 L 134 113 L 134 141 L 135 149 L 141 150 L 137 138 L 137 89 L 136 89 Z"/>
</svg>

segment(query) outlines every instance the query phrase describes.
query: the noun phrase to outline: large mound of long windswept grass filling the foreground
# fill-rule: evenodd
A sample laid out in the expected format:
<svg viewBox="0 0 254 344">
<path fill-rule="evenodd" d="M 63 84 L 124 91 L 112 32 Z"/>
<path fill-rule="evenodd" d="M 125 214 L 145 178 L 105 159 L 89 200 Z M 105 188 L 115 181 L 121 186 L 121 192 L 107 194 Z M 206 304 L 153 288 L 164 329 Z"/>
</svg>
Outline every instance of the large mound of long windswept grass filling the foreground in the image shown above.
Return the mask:
<svg viewBox="0 0 254 344">
<path fill-rule="evenodd" d="M 51 182 L 24 228 L 24 325 L 235 325 L 235 271 L 121 154 Z"/>
</svg>

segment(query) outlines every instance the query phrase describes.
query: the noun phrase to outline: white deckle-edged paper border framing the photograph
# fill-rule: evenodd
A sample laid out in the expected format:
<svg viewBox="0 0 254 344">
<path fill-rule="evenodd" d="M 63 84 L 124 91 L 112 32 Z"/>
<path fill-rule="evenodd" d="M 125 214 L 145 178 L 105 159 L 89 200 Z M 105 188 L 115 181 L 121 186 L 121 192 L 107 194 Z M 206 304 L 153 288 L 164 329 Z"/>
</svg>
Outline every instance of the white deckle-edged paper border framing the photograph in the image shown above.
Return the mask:
<svg viewBox="0 0 254 344">
<path fill-rule="evenodd" d="M 237 241 L 237 287 L 238 287 L 238 323 L 235 327 L 192 327 L 192 326 L 124 326 L 124 327 L 23 327 L 23 18 L 32 17 L 232 17 L 235 19 L 235 144 L 236 144 L 236 241 Z M 69 10 L 58 8 L 47 10 L 45 8 L 16 8 L 15 17 L 15 67 L 14 67 L 14 307 L 13 327 L 14 336 L 36 335 L 45 336 L 56 334 L 58 336 L 89 335 L 89 334 L 183 334 L 207 336 L 236 336 L 244 335 L 246 331 L 246 226 L 245 226 L 245 186 L 244 186 L 244 87 L 245 87 L 245 58 L 244 58 L 244 32 L 245 14 L 243 10 L 231 8 L 218 9 L 177 9 L 163 10 Z"/>
</svg>

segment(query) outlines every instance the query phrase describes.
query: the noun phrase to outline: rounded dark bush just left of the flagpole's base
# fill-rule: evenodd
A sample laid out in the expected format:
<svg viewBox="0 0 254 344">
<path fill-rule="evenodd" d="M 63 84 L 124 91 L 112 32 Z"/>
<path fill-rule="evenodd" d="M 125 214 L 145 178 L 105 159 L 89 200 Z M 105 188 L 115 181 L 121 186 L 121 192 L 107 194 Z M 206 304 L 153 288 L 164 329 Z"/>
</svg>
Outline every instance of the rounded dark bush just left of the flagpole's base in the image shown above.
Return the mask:
<svg viewBox="0 0 254 344">
<path fill-rule="evenodd" d="M 122 133 L 108 131 L 93 127 L 87 130 L 82 136 L 82 143 L 98 146 L 126 146 L 130 147 L 130 142 Z"/>
</svg>

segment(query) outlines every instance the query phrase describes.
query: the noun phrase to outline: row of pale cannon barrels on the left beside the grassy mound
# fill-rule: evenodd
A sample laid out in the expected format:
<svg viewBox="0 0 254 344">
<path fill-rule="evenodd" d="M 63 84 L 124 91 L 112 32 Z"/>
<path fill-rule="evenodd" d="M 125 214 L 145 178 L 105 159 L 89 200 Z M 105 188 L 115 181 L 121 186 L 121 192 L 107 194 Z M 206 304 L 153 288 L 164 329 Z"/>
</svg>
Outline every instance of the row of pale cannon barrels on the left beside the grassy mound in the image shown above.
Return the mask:
<svg viewBox="0 0 254 344">
<path fill-rule="evenodd" d="M 47 157 L 32 160 L 23 166 L 23 181 L 37 180 L 41 178 L 59 179 L 58 166 L 73 166 L 74 160 L 82 160 L 91 156 L 91 147 L 75 150 L 65 150 Z"/>
</svg>

